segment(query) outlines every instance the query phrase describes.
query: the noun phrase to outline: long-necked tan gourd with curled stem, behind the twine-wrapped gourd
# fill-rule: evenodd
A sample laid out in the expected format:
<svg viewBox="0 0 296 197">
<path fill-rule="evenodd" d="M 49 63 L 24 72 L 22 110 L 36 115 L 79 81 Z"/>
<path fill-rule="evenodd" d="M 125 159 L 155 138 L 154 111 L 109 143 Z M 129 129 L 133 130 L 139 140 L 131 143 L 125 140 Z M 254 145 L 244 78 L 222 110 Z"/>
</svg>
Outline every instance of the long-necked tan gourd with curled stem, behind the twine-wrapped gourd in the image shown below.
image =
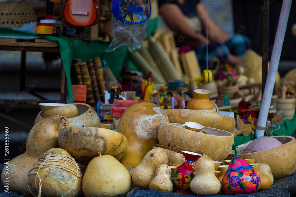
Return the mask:
<svg viewBox="0 0 296 197">
<path fill-rule="evenodd" d="M 20 195 L 32 195 L 28 188 L 28 172 L 41 154 L 51 148 L 58 147 L 58 127 L 62 119 L 67 122 L 67 118 L 64 116 L 53 115 L 37 123 L 30 130 L 26 152 L 9 161 L 8 174 L 4 173 L 4 170 L 1 174 L 3 185 L 5 185 L 4 181 L 8 177 L 10 191 L 16 191 Z"/>
</svg>

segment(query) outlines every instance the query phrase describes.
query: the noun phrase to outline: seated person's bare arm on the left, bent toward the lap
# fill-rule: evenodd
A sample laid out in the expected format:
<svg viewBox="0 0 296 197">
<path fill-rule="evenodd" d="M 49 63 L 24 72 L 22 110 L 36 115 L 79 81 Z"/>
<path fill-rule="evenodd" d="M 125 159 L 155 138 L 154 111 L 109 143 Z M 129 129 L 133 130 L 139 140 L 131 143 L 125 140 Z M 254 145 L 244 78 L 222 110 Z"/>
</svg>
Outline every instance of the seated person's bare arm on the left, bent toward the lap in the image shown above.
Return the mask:
<svg viewBox="0 0 296 197">
<path fill-rule="evenodd" d="M 200 47 L 206 43 L 204 35 L 194 32 L 189 26 L 188 22 L 181 9 L 175 4 L 168 4 L 159 7 L 159 14 L 165 20 L 168 27 L 176 33 L 176 35 L 184 35 L 184 41 L 194 48 Z"/>
</svg>

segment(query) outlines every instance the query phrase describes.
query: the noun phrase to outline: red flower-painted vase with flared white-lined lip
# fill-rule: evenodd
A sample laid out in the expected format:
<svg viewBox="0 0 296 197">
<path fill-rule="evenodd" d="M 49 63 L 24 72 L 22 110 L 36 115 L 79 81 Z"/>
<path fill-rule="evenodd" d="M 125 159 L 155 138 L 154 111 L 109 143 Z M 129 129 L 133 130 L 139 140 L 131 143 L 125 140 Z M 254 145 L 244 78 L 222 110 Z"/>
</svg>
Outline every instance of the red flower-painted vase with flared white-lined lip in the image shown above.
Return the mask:
<svg viewBox="0 0 296 197">
<path fill-rule="evenodd" d="M 191 180 L 194 178 L 194 164 L 202 155 L 189 151 L 182 151 L 185 162 L 178 166 L 173 173 L 172 182 L 178 193 L 193 194 L 190 190 Z"/>
</svg>

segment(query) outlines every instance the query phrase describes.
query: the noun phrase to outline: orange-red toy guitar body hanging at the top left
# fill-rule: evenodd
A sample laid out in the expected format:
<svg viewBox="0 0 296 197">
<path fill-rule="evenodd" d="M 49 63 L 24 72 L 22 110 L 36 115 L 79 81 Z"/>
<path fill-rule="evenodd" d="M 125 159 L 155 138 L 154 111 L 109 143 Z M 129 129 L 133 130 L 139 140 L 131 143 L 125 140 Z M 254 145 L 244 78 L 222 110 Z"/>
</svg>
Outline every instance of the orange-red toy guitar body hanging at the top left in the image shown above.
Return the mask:
<svg viewBox="0 0 296 197">
<path fill-rule="evenodd" d="M 72 25 L 92 26 L 99 22 L 100 7 L 96 0 L 68 0 L 64 15 Z"/>
</svg>

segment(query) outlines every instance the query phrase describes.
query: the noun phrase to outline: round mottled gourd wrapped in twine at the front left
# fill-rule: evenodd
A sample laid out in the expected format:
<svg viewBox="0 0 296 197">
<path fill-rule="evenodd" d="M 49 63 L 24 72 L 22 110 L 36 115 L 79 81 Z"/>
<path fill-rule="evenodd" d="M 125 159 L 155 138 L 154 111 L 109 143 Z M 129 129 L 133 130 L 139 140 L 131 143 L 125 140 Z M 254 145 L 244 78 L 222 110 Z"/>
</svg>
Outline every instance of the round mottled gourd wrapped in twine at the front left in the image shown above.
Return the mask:
<svg viewBox="0 0 296 197">
<path fill-rule="evenodd" d="M 28 186 L 35 197 L 75 196 L 82 174 L 77 162 L 64 149 L 50 149 L 41 154 L 28 174 Z"/>
</svg>

